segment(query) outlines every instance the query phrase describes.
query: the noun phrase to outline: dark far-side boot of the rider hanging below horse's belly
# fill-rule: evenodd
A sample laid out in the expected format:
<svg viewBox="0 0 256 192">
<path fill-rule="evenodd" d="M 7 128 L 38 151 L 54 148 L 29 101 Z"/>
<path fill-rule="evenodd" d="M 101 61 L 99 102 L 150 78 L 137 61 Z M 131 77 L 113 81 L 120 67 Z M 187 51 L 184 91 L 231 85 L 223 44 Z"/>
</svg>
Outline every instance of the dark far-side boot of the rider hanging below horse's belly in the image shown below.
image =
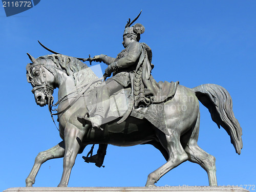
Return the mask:
<svg viewBox="0 0 256 192">
<path fill-rule="evenodd" d="M 93 155 L 91 157 L 82 157 L 85 162 L 87 163 L 95 163 L 97 167 L 101 167 L 106 155 L 106 147 L 108 144 L 99 144 L 99 149 L 97 151 L 96 155 Z M 104 166 L 103 166 L 104 167 Z"/>
</svg>

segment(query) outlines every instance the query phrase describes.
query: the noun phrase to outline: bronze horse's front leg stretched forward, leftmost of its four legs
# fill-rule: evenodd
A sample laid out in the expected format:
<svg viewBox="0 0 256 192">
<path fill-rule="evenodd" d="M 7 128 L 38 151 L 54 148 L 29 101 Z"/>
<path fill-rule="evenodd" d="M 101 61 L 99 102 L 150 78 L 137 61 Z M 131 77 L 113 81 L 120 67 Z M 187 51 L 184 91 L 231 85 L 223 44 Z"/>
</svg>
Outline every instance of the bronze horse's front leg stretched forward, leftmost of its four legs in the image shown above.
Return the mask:
<svg viewBox="0 0 256 192">
<path fill-rule="evenodd" d="M 47 151 L 40 152 L 36 156 L 34 166 L 29 176 L 26 179 L 26 187 L 32 187 L 32 185 L 35 183 L 35 177 L 42 163 L 48 161 L 49 159 L 61 158 L 64 156 L 64 153 L 65 153 L 64 141 L 61 141 L 59 144 L 50 148 Z"/>
</svg>

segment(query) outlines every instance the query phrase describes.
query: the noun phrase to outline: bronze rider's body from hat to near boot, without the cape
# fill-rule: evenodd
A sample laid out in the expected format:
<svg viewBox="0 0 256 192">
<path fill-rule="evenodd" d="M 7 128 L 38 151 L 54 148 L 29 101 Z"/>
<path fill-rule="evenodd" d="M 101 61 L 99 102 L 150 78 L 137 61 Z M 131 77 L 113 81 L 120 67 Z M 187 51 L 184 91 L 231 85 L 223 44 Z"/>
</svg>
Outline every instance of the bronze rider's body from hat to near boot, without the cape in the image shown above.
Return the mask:
<svg viewBox="0 0 256 192">
<path fill-rule="evenodd" d="M 139 40 L 140 34 L 142 34 L 144 30 L 145 28 L 141 24 L 126 27 L 122 42 L 125 49 L 122 50 L 116 58 L 102 54 L 93 57 L 93 61 L 102 61 L 108 65 L 105 70 L 105 76 L 109 77 L 113 73 L 113 77 L 106 80 L 105 85 L 98 87 L 96 90 L 97 105 L 94 116 L 90 118 L 85 117 L 86 120 L 91 121 L 93 127 L 99 128 L 102 124 L 102 119 L 105 117 L 106 111 L 108 111 L 110 107 L 110 96 L 130 86 L 132 83 L 140 55 L 143 52 L 143 47 Z"/>
</svg>

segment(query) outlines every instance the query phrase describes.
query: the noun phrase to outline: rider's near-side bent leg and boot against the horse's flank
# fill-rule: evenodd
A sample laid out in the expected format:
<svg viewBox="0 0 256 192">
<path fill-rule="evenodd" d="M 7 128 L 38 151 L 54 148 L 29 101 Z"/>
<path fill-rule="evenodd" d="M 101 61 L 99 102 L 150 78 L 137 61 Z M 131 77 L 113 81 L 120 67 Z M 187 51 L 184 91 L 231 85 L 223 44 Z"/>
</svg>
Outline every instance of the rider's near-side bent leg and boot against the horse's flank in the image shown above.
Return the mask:
<svg viewBox="0 0 256 192">
<path fill-rule="evenodd" d="M 110 108 L 110 96 L 115 92 L 120 91 L 123 86 L 115 80 L 106 80 L 104 86 L 97 88 L 97 105 L 96 112 L 93 117 L 90 118 L 94 127 L 100 127 L 102 120 L 105 117 L 106 111 Z"/>
</svg>

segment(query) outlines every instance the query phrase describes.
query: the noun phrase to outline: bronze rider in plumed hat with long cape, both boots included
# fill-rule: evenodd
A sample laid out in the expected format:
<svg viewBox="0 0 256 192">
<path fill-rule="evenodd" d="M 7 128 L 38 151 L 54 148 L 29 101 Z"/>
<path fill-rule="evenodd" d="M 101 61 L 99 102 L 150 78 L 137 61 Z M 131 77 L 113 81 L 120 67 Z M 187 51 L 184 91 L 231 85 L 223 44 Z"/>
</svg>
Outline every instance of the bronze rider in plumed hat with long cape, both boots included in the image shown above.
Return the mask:
<svg viewBox="0 0 256 192">
<path fill-rule="evenodd" d="M 84 117 L 86 121 L 92 123 L 93 127 L 99 128 L 101 126 L 102 120 L 110 108 L 110 96 L 123 88 L 132 87 L 132 104 L 135 108 L 151 103 L 162 103 L 172 98 L 175 93 L 171 90 L 176 90 L 178 82 L 156 82 L 152 77 L 151 70 L 154 66 L 151 63 L 151 48 L 145 43 L 139 42 L 140 34 L 144 33 L 145 28 L 141 24 L 130 27 L 131 24 L 128 23 L 125 26 L 122 42 L 125 49 L 116 58 L 96 55 L 92 59 L 108 65 L 105 76 L 109 77 L 113 73 L 113 77 L 106 80 L 104 86 L 96 89 L 96 112 L 90 118 Z M 130 112 L 128 110 L 123 118 L 125 119 Z M 100 167 L 104 160 L 106 147 L 107 144 L 100 144 L 96 155 L 89 158 L 84 157 L 84 159 L 86 162 L 95 162 L 96 166 Z"/>
</svg>

